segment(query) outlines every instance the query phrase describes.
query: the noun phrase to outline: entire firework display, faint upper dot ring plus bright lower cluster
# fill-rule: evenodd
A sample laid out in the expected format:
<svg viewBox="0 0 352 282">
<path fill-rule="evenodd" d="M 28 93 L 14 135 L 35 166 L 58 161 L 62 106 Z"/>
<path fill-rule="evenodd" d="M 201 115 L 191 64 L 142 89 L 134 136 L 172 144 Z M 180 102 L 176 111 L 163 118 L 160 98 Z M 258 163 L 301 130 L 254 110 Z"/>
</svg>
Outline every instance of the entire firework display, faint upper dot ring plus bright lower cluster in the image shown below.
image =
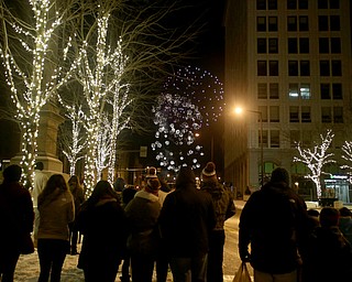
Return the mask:
<svg viewBox="0 0 352 282">
<path fill-rule="evenodd" d="M 222 84 L 211 73 L 187 66 L 169 76 L 154 109 L 158 131 L 152 149 L 157 152 L 156 160 L 167 170 L 177 171 L 183 164 L 200 167 L 202 145 L 195 142 L 195 135 L 221 116 Z"/>
</svg>

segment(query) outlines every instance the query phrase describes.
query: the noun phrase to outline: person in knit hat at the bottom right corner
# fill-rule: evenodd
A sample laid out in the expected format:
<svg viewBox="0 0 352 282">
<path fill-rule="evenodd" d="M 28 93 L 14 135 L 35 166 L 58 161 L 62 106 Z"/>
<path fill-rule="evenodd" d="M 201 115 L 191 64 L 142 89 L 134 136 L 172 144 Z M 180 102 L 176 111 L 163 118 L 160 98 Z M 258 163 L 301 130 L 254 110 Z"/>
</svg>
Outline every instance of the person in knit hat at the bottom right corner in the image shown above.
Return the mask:
<svg viewBox="0 0 352 282">
<path fill-rule="evenodd" d="M 306 245 L 302 281 L 352 281 L 352 249 L 338 227 L 339 210 L 322 208 L 319 221 Z"/>
</svg>

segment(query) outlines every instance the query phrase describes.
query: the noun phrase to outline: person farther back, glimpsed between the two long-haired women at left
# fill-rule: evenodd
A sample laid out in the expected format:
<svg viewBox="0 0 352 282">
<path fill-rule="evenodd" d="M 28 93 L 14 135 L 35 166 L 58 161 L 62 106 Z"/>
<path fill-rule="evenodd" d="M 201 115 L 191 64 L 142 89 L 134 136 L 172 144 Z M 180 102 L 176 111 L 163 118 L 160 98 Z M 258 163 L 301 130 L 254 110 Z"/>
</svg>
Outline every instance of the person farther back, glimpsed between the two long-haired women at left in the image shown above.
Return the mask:
<svg viewBox="0 0 352 282">
<path fill-rule="evenodd" d="M 75 210 L 79 210 L 80 205 L 85 202 L 84 188 L 79 184 L 79 178 L 77 175 L 73 175 L 68 180 L 69 191 L 73 194 Z M 73 221 L 69 224 L 69 242 L 70 242 L 70 254 L 78 254 L 77 251 L 77 241 L 78 241 L 78 230 L 76 228 L 76 223 Z"/>
</svg>

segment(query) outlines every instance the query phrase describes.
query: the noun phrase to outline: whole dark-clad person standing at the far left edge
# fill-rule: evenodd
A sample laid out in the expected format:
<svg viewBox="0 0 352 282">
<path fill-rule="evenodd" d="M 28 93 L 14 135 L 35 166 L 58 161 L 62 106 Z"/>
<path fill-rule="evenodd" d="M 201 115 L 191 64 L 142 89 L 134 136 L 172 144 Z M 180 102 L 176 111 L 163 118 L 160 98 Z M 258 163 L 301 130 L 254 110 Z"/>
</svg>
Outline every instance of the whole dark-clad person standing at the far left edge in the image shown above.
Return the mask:
<svg viewBox="0 0 352 282">
<path fill-rule="evenodd" d="M 33 231 L 33 203 L 29 191 L 19 183 L 21 174 L 19 165 L 8 166 L 0 185 L 0 280 L 8 282 L 13 281 L 20 253 L 26 247 L 25 237 L 31 240 Z"/>
</svg>

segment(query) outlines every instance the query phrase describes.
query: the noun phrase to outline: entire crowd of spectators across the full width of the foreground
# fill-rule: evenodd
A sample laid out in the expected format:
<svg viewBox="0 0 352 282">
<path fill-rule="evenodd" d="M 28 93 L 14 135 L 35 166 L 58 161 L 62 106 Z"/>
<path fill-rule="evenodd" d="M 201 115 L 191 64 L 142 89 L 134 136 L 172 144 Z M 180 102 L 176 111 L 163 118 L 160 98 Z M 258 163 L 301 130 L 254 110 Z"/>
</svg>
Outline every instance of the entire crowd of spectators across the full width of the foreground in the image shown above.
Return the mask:
<svg viewBox="0 0 352 282">
<path fill-rule="evenodd" d="M 183 166 L 175 188 L 150 167 L 141 188 L 119 177 L 99 181 L 85 199 L 79 178 L 47 177 L 35 167 L 34 188 L 20 183 L 22 169 L 9 165 L 0 185 L 0 278 L 13 281 L 20 254 L 34 252 L 38 282 L 61 281 L 67 254 L 78 254 L 87 282 L 222 282 L 224 221 L 235 214 L 216 165 L 201 171 Z M 252 193 L 240 216 L 239 253 L 254 269 L 255 282 L 352 281 L 352 215 L 323 207 L 307 210 L 289 187 L 285 169 Z M 4 231 L 6 230 L 6 231 Z M 33 240 L 31 238 L 33 235 Z M 82 237 L 80 252 L 78 238 Z M 233 250 L 235 251 L 235 250 Z"/>
</svg>

